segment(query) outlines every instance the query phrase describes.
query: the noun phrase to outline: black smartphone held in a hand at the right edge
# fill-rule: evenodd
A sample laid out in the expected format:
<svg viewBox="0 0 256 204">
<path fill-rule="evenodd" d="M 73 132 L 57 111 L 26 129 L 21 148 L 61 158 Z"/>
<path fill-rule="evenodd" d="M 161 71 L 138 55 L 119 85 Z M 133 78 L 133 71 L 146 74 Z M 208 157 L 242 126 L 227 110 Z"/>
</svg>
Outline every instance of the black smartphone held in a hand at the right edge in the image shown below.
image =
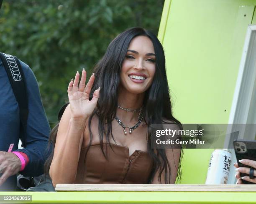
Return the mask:
<svg viewBox="0 0 256 204">
<path fill-rule="evenodd" d="M 245 164 L 238 162 L 240 159 L 250 159 L 256 161 L 256 140 L 247 140 L 247 139 L 236 139 L 233 141 L 233 146 L 236 153 L 236 159 L 239 167 L 248 167 Z M 249 176 L 245 173 L 240 173 L 241 177 Z M 244 184 L 255 184 L 243 180 Z"/>
</svg>

